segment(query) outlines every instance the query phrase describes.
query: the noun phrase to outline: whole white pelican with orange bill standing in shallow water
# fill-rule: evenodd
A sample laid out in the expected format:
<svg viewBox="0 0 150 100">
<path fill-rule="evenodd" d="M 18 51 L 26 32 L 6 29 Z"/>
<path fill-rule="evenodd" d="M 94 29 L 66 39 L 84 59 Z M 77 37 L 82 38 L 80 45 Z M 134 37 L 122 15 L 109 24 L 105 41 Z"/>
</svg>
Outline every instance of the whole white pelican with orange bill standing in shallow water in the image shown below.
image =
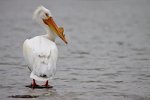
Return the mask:
<svg viewBox="0 0 150 100">
<path fill-rule="evenodd" d="M 55 38 L 59 36 L 66 44 L 67 40 L 63 28 L 58 28 L 50 10 L 40 6 L 35 10 L 33 18 L 45 27 L 47 34 L 26 39 L 23 44 L 23 55 L 31 71 L 30 78 L 33 79 L 31 87 L 38 86 L 36 81 L 44 81 L 46 82 L 44 86 L 49 87 L 48 80 L 56 72 L 58 56 Z"/>
</svg>

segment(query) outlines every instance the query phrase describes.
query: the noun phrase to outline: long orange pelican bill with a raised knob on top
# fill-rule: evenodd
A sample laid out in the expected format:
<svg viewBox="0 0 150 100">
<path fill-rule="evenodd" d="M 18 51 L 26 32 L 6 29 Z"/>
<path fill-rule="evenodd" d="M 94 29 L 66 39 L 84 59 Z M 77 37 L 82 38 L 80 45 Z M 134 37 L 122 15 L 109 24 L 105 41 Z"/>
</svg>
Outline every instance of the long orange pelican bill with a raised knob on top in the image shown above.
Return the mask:
<svg viewBox="0 0 150 100">
<path fill-rule="evenodd" d="M 68 43 L 65 35 L 63 34 L 64 29 L 63 27 L 59 27 L 56 25 L 52 17 L 49 17 L 48 19 L 43 19 L 43 22 L 49 26 L 49 28 L 57 34 L 66 44 Z"/>
</svg>

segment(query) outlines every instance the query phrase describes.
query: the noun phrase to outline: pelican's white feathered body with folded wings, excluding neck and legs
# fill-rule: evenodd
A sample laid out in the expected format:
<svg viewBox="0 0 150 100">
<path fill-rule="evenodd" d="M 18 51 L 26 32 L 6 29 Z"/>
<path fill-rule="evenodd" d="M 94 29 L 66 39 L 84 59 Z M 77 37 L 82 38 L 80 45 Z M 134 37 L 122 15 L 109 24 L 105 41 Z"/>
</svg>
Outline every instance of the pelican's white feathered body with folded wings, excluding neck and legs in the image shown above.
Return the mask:
<svg viewBox="0 0 150 100">
<path fill-rule="evenodd" d="M 31 78 L 41 81 L 55 74 L 58 50 L 54 42 L 38 36 L 24 42 L 23 52 Z"/>
</svg>

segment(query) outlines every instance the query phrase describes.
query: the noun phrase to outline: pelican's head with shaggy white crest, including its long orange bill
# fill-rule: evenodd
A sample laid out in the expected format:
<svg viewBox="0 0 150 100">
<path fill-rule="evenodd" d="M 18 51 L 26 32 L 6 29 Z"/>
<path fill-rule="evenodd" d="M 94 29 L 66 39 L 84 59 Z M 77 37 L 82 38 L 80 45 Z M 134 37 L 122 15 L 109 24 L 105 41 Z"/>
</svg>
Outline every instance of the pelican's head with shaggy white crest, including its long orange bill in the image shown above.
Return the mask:
<svg viewBox="0 0 150 100">
<path fill-rule="evenodd" d="M 43 6 L 38 7 L 33 14 L 33 19 L 35 19 L 38 23 L 44 23 L 47 25 L 53 33 L 57 34 L 67 44 L 67 40 L 63 34 L 64 29 L 63 27 L 57 26 L 52 18 L 50 10 Z"/>
</svg>

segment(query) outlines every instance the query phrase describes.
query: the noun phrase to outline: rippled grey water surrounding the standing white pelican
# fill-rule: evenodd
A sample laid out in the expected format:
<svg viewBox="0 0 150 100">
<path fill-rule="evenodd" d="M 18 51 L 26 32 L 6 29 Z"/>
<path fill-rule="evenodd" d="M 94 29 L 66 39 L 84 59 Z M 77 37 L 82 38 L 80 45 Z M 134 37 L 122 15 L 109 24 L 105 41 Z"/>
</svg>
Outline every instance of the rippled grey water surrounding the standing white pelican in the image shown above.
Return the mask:
<svg viewBox="0 0 150 100">
<path fill-rule="evenodd" d="M 25 87 L 31 79 L 22 44 L 45 32 L 32 20 L 39 5 L 51 9 L 69 44 L 56 41 L 54 88 L 32 90 Z M 149 100 L 149 5 L 148 0 L 1 0 L 0 99 Z"/>
</svg>

